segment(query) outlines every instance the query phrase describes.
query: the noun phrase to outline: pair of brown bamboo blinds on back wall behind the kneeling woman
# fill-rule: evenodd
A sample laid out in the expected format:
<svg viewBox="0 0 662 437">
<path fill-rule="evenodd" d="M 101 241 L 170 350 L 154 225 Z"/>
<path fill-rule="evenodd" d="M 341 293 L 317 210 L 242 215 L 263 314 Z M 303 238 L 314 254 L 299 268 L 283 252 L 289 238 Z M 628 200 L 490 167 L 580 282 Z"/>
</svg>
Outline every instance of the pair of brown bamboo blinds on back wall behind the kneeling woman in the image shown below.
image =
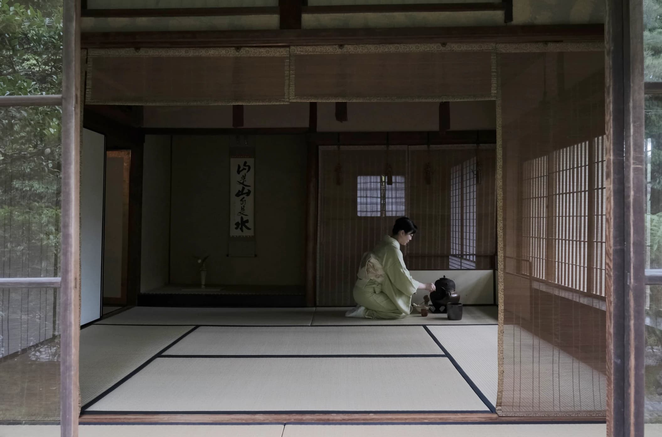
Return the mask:
<svg viewBox="0 0 662 437">
<path fill-rule="evenodd" d="M 319 180 L 320 306 L 354 305 L 361 255 L 401 216 L 418 225 L 403 251 L 410 270 L 494 266 L 491 146 L 322 147 Z"/>
</svg>

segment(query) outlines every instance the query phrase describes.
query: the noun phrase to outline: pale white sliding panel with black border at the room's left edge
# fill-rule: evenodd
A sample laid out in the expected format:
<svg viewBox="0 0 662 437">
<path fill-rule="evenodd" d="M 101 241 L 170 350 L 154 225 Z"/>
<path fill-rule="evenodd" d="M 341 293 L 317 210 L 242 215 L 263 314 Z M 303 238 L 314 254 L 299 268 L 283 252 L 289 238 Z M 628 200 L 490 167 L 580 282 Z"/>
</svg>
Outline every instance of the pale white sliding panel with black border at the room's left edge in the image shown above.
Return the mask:
<svg viewBox="0 0 662 437">
<path fill-rule="evenodd" d="M 81 141 L 81 325 L 101 317 L 105 137 L 83 129 Z"/>
</svg>

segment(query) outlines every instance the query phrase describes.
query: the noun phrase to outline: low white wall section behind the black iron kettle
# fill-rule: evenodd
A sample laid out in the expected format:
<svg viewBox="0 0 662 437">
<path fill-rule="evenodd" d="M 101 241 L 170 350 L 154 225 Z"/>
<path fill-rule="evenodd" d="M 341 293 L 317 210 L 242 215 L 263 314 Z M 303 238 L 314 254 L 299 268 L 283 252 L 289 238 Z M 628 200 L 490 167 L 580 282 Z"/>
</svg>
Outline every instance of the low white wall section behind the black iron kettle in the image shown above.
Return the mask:
<svg viewBox="0 0 662 437">
<path fill-rule="evenodd" d="M 419 282 L 435 282 L 442 276 L 455 281 L 455 290 L 460 295 L 460 302 L 467 305 L 494 304 L 494 270 L 412 270 L 412 277 Z M 422 303 L 428 294 L 419 290 L 412 301 Z"/>
</svg>

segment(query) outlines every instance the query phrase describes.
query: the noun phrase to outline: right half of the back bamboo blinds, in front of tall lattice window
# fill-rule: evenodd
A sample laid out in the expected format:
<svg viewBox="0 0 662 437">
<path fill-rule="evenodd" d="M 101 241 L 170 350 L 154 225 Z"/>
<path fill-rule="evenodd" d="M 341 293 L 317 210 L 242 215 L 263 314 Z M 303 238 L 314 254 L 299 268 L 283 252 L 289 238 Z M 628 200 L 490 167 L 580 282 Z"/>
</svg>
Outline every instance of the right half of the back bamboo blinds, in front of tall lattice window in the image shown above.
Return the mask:
<svg viewBox="0 0 662 437">
<path fill-rule="evenodd" d="M 408 268 L 495 268 L 494 146 L 412 146 L 409 175 L 409 214 L 420 231 Z"/>
</svg>

